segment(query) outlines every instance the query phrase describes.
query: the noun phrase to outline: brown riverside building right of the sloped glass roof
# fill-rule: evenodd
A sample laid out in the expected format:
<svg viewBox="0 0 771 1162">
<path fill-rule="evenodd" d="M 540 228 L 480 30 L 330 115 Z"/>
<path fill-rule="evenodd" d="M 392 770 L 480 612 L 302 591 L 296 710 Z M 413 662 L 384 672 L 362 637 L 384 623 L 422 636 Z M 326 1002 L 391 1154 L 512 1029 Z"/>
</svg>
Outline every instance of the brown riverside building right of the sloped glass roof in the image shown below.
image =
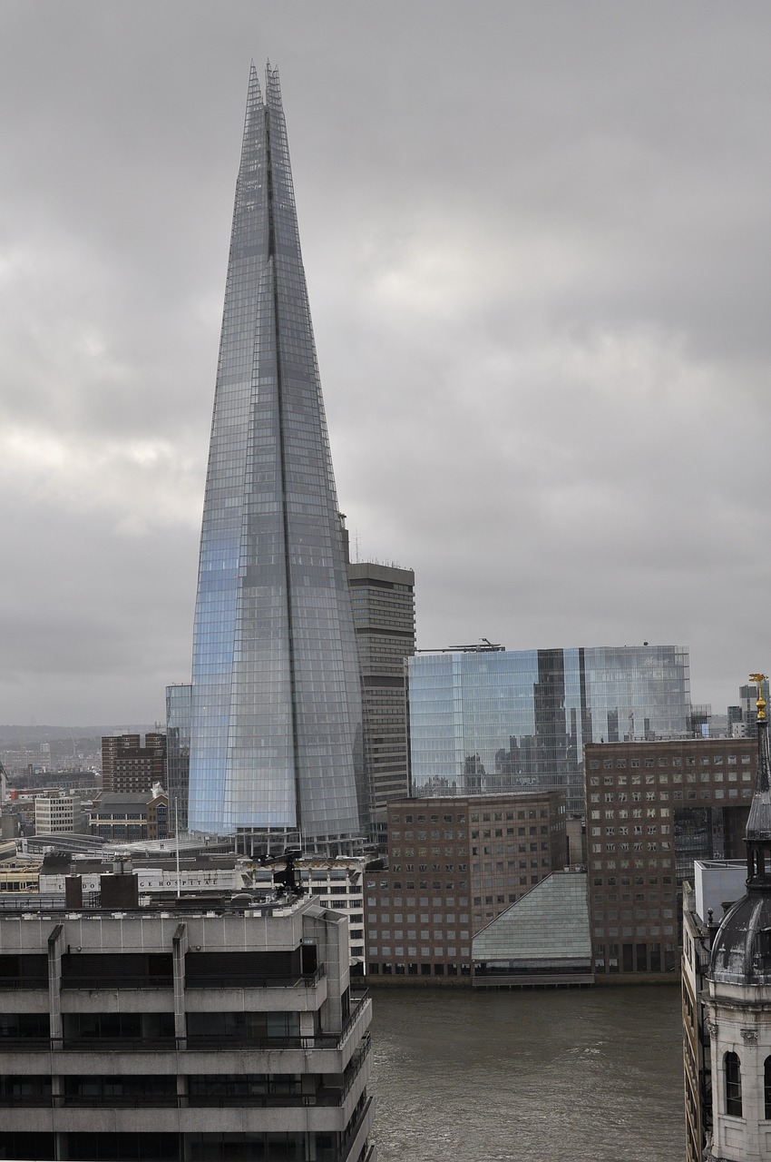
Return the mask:
<svg viewBox="0 0 771 1162">
<path fill-rule="evenodd" d="M 679 892 L 693 861 L 741 855 L 755 743 L 595 744 L 585 763 L 595 973 L 675 973 Z"/>
</svg>

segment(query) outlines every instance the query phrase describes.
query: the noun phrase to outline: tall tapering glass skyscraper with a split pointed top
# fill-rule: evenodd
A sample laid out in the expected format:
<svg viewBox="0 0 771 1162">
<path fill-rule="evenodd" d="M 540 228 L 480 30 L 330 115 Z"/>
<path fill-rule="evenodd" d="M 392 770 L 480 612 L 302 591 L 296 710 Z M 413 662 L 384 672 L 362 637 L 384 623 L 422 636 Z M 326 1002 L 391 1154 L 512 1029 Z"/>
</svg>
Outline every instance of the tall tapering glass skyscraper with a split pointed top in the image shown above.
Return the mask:
<svg viewBox="0 0 771 1162">
<path fill-rule="evenodd" d="M 361 695 L 341 516 L 278 71 L 252 65 L 193 640 L 188 824 L 253 849 L 362 834 Z"/>
</svg>

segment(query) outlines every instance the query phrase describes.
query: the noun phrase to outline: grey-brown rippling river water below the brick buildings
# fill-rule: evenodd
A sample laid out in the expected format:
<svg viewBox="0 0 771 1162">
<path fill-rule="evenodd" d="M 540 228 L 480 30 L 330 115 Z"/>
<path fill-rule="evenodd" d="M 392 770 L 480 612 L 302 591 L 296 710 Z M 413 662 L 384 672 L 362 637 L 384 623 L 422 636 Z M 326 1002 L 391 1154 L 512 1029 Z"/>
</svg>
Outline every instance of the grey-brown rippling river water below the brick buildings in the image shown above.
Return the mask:
<svg viewBox="0 0 771 1162">
<path fill-rule="evenodd" d="M 379 1162 L 683 1162 L 676 985 L 370 996 Z"/>
</svg>

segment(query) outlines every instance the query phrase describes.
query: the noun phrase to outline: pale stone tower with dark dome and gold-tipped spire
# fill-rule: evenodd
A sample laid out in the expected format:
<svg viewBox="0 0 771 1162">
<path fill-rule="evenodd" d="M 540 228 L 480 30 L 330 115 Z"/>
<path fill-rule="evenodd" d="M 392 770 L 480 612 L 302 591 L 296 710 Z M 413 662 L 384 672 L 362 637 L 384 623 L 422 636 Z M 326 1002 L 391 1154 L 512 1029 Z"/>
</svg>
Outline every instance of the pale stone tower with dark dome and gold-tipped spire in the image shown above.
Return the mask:
<svg viewBox="0 0 771 1162">
<path fill-rule="evenodd" d="M 726 913 L 707 973 L 712 1138 L 705 1162 L 771 1159 L 771 755 L 758 683 L 757 782 L 747 820 L 747 895 Z"/>
</svg>

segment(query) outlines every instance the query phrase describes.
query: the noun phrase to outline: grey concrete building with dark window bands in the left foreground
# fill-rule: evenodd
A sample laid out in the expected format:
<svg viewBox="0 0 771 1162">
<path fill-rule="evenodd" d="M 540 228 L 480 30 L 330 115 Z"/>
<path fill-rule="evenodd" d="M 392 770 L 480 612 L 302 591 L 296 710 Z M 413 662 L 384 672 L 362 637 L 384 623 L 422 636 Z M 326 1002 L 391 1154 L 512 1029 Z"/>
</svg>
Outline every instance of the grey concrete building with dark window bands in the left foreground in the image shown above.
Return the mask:
<svg viewBox="0 0 771 1162">
<path fill-rule="evenodd" d="M 132 878 L 103 875 L 102 903 Z M 0 947 L 0 1157 L 374 1162 L 344 916 L 26 902 Z"/>
</svg>

